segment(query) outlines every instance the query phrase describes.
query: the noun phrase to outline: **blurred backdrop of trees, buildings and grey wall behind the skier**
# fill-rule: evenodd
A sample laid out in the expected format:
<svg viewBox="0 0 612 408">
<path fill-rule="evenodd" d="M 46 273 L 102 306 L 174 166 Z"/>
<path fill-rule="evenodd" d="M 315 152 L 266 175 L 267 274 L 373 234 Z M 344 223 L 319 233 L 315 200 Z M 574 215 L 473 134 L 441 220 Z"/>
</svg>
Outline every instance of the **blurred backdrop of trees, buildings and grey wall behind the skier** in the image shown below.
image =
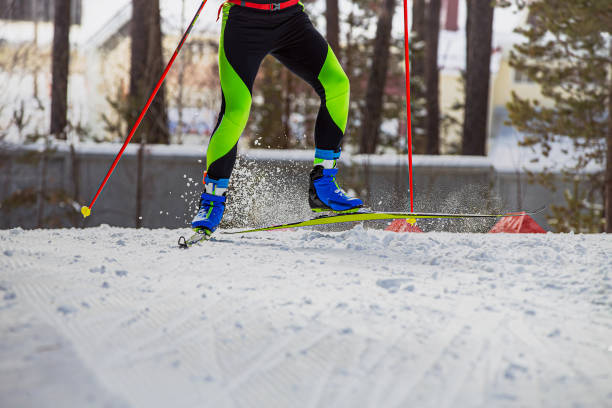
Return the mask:
<svg viewBox="0 0 612 408">
<path fill-rule="evenodd" d="M 220 107 L 220 4 L 83 220 L 200 1 L 0 0 L 0 228 L 188 225 Z M 304 4 L 351 80 L 342 184 L 408 210 L 403 4 Z M 408 14 L 415 210 L 547 205 L 548 230 L 612 232 L 612 3 L 413 0 Z M 319 103 L 264 60 L 226 226 L 308 216 Z"/>
</svg>

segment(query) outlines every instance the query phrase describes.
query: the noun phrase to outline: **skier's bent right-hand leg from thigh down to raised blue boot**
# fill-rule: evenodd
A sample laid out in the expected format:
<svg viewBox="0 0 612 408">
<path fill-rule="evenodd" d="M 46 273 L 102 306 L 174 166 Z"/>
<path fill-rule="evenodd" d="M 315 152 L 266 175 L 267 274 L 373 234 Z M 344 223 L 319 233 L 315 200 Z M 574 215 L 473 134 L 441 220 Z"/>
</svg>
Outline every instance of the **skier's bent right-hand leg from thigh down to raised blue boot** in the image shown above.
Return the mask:
<svg viewBox="0 0 612 408">
<path fill-rule="evenodd" d="M 321 97 L 315 124 L 315 160 L 310 173 L 309 204 L 313 211 L 354 211 L 363 206 L 336 182 L 336 161 L 348 118 L 349 80 L 327 41 L 301 12 L 283 27 L 272 55 L 308 82 Z"/>
</svg>

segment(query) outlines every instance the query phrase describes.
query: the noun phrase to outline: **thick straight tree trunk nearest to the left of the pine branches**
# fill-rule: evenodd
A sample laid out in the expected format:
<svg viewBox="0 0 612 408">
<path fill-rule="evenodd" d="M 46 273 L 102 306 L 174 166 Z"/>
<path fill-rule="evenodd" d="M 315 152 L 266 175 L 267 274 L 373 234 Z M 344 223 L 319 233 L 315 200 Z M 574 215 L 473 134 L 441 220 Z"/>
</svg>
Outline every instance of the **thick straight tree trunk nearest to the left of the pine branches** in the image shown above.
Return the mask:
<svg viewBox="0 0 612 408">
<path fill-rule="evenodd" d="M 463 154 L 486 154 L 494 6 L 469 0 Z"/>
</svg>

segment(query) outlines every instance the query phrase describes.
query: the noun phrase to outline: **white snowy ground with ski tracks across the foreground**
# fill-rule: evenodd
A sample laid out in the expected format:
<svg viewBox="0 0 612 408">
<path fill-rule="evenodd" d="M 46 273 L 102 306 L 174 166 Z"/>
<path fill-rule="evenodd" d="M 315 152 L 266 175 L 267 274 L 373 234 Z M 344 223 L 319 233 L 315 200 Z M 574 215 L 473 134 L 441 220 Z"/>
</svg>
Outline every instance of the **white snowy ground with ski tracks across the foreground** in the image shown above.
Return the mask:
<svg viewBox="0 0 612 408">
<path fill-rule="evenodd" d="M 0 231 L 1 407 L 610 407 L 612 238 Z"/>
</svg>

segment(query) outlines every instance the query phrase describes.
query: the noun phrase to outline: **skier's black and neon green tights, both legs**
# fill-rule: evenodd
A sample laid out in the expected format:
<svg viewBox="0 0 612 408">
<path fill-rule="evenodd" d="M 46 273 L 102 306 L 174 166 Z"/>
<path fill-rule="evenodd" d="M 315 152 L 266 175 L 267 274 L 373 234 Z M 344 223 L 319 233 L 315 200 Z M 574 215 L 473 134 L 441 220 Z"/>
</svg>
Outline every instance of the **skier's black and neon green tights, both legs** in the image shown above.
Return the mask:
<svg viewBox="0 0 612 408">
<path fill-rule="evenodd" d="M 349 108 L 349 80 L 302 5 L 261 11 L 226 3 L 219 42 L 222 103 L 206 154 L 208 177 L 228 179 L 251 108 L 253 82 L 271 54 L 321 97 L 315 145 L 321 158 L 339 156 Z"/>
</svg>

